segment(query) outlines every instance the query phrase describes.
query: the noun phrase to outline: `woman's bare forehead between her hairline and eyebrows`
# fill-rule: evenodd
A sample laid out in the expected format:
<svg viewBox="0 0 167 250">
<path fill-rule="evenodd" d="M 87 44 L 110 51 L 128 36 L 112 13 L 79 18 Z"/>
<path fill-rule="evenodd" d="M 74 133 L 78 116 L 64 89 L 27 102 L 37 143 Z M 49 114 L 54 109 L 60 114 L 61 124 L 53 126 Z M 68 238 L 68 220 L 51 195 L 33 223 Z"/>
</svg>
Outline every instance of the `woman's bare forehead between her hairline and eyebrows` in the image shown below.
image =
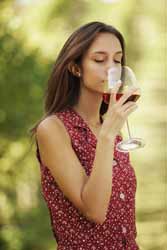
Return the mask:
<svg viewBox="0 0 167 250">
<path fill-rule="evenodd" d="M 87 53 L 105 50 L 107 53 L 116 53 L 122 51 L 119 39 L 111 33 L 99 33 L 92 42 Z"/>
</svg>

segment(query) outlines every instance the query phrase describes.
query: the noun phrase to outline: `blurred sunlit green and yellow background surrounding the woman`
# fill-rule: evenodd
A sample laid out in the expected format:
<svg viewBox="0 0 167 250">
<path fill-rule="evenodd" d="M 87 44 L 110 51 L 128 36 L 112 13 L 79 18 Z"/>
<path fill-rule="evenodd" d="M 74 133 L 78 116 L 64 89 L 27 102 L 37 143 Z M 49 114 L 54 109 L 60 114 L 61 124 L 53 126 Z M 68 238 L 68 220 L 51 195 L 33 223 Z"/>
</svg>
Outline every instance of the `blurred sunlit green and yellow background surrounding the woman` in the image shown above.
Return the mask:
<svg viewBox="0 0 167 250">
<path fill-rule="evenodd" d="M 139 108 L 129 118 L 132 135 L 146 141 L 130 153 L 137 176 L 137 242 L 141 250 L 167 249 L 165 3 L 0 1 L 0 249 L 55 250 L 28 129 L 43 114 L 46 82 L 65 40 L 95 20 L 123 33 L 127 65 L 142 89 Z"/>
</svg>

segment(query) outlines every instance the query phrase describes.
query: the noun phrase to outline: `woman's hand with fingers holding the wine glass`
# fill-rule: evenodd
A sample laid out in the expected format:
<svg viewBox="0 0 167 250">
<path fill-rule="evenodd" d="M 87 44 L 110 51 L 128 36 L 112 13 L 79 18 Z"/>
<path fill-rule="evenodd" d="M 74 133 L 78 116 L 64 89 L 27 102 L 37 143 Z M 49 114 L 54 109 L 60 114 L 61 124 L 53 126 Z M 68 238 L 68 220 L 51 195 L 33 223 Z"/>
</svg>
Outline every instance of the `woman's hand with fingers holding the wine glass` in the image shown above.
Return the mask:
<svg viewBox="0 0 167 250">
<path fill-rule="evenodd" d="M 121 98 L 116 101 L 116 94 L 121 86 L 121 83 L 111 89 L 110 91 L 110 101 L 108 105 L 108 110 L 105 114 L 105 119 L 100 131 L 100 134 L 113 139 L 123 127 L 127 117 L 137 109 L 136 102 L 125 101 L 134 93 L 138 88 L 130 88 L 126 93 L 124 93 Z M 125 104 L 124 104 L 125 103 Z"/>
</svg>

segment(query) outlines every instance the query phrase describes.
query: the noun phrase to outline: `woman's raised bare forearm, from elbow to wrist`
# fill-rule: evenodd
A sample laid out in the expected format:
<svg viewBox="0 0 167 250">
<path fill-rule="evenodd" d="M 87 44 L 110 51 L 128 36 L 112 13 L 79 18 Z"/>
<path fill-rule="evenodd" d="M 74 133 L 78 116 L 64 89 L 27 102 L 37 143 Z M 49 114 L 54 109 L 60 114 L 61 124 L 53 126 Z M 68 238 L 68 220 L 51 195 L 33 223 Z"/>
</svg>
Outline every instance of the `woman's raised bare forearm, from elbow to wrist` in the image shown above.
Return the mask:
<svg viewBox="0 0 167 250">
<path fill-rule="evenodd" d="M 114 139 L 114 136 L 110 140 L 104 135 L 99 137 L 92 172 L 82 192 L 85 207 L 100 224 L 106 219 L 112 194 Z"/>
</svg>

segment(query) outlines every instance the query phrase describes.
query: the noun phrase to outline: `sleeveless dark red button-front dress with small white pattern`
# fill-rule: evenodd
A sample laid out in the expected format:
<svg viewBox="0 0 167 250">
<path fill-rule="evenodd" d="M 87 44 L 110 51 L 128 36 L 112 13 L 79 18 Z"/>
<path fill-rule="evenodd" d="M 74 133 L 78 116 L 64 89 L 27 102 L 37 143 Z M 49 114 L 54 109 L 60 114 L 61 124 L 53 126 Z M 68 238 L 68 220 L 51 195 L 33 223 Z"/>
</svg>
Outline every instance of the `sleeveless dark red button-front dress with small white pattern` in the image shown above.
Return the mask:
<svg viewBox="0 0 167 250">
<path fill-rule="evenodd" d="M 96 151 L 96 136 L 73 108 L 67 107 L 55 115 L 65 125 L 72 148 L 86 174 L 90 176 Z M 121 140 L 122 137 L 117 135 L 115 145 Z M 64 196 L 49 168 L 42 164 L 38 145 L 36 155 L 40 163 L 42 194 L 50 212 L 57 250 L 139 249 L 135 241 L 136 177 L 129 153 L 118 152 L 114 148 L 112 196 L 103 224 L 88 220 Z"/>
</svg>

